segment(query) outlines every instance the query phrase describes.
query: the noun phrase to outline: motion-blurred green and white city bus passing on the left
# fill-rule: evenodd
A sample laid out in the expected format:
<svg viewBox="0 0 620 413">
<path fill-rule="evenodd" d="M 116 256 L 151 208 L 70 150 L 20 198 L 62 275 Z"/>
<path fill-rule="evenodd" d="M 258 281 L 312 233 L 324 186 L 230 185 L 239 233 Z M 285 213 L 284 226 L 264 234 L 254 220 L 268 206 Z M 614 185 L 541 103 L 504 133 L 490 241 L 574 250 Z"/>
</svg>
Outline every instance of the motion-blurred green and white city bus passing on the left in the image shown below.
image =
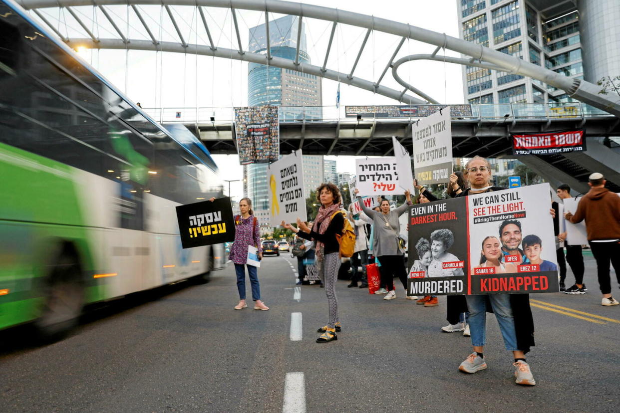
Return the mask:
<svg viewBox="0 0 620 413">
<path fill-rule="evenodd" d="M 223 185 L 170 130 L 0 1 L 0 329 L 56 336 L 89 303 L 223 267 L 223 245 L 181 247 L 175 206 Z"/>
</svg>

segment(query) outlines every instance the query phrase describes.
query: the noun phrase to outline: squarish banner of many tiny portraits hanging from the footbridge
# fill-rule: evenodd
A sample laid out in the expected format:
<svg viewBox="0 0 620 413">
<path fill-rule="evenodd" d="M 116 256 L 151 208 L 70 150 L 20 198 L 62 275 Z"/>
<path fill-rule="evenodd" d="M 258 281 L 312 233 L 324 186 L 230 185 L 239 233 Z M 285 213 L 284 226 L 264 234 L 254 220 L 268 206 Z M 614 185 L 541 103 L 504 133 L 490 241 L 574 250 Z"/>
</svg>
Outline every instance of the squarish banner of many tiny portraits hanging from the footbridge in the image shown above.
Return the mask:
<svg viewBox="0 0 620 413">
<path fill-rule="evenodd" d="M 278 107 L 272 105 L 234 108 L 239 163 L 265 163 L 280 155 Z"/>
</svg>

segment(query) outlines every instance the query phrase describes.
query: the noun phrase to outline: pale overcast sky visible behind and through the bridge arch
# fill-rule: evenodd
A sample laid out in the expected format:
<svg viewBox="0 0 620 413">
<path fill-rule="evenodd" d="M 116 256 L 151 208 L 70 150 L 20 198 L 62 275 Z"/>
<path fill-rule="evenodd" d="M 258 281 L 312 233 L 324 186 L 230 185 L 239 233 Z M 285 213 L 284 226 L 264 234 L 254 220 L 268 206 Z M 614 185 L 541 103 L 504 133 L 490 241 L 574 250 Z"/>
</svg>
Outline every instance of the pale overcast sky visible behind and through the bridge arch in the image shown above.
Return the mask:
<svg viewBox="0 0 620 413">
<path fill-rule="evenodd" d="M 297 1 L 294 1 L 297 2 Z M 446 35 L 459 37 L 458 34 L 458 0 L 307 0 L 308 4 L 334 7 L 374 15 L 384 19 L 427 28 Z M 113 15 L 120 30 L 129 38 L 148 40 L 138 17 L 126 6 L 106 6 Z M 100 38 L 118 38 L 113 27 L 105 17 L 93 8 L 73 7 L 83 22 Z M 208 37 L 202 25 L 200 15 L 194 7 L 172 7 L 184 40 L 187 43 L 208 44 Z M 205 20 L 210 27 L 216 45 L 225 48 L 237 48 L 232 18 L 229 9 L 206 7 Z M 174 27 L 166 12 L 160 6 L 139 6 L 153 35 L 161 41 L 179 41 Z M 66 12 L 58 9 L 45 9 L 45 16 L 69 38 L 87 37 L 75 20 Z M 36 15 L 32 14 L 36 18 Z M 281 15 L 270 13 L 270 19 Z M 254 11 L 237 10 L 237 22 L 241 43 L 247 46 L 249 28 L 264 23 L 264 14 Z M 159 24 L 161 22 L 161 25 Z M 306 43 L 312 64 L 321 65 L 324 60 L 332 22 L 316 19 L 304 19 Z M 366 29 L 338 25 L 332 51 L 327 67 L 348 73 L 355 61 L 363 41 Z M 355 76 L 376 81 L 391 57 L 400 38 L 384 33 L 373 32 L 366 43 L 366 48 L 355 70 Z M 231 107 L 247 105 L 247 63 L 231 59 L 195 56 L 194 54 L 155 53 L 153 51 L 126 50 L 89 50 L 80 48 L 80 55 L 104 77 L 107 77 L 118 89 L 128 95 L 134 102 L 140 102 L 148 113 L 149 108 L 166 108 L 164 113 L 170 115 L 182 111 L 184 121 L 196 118 L 196 108 L 200 110 L 199 118 L 206 119 L 215 115 L 218 118 L 230 118 Z M 405 41 L 399 59 L 408 54 L 432 53 L 435 46 L 418 41 Z M 440 51 L 438 55 L 441 55 Z M 447 56 L 458 56 L 446 51 Z M 415 61 L 403 64 L 399 75 L 410 84 L 432 96 L 441 103 L 463 103 L 463 80 L 461 66 L 432 61 Z M 322 102 L 324 106 L 335 106 L 338 82 L 323 79 Z M 402 90 L 388 71 L 382 85 Z M 394 105 L 391 98 L 375 95 L 366 90 L 340 86 L 340 105 Z M 342 108 L 341 108 L 342 110 Z M 332 108 L 335 111 L 335 108 Z M 237 155 L 214 155 L 223 179 L 242 179 L 242 168 Z M 327 157 L 337 160 L 338 172 L 355 173 L 354 157 Z M 224 189 L 228 192 L 228 185 Z M 231 194 L 242 196 L 241 182 L 231 184 Z"/>
</svg>

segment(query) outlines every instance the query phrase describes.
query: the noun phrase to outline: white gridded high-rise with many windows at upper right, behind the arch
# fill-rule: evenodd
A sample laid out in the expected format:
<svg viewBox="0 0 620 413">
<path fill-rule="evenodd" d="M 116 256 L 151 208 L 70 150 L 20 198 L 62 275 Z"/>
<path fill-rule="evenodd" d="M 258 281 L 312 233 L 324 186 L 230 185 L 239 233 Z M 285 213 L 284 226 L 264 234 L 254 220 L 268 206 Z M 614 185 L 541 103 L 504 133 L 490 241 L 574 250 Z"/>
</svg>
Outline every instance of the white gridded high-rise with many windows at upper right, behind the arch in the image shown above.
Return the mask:
<svg viewBox="0 0 620 413">
<path fill-rule="evenodd" d="M 609 43 L 598 40 L 590 46 L 583 43 L 582 32 L 595 27 L 591 18 L 587 24 L 582 12 L 600 14 L 600 3 L 606 1 L 580 1 L 588 8 L 576 6 L 574 1 L 556 0 L 457 0 L 459 7 L 459 34 L 461 38 L 487 46 L 502 53 L 517 56 L 529 63 L 538 64 L 552 71 L 575 79 L 593 79 L 595 71 L 584 73 L 582 45 L 594 47 Z M 611 9 L 617 9 L 620 19 L 620 2 L 610 0 Z M 592 6 L 597 4 L 597 6 Z M 616 20 L 617 25 L 618 20 Z M 584 28 L 590 27 L 588 30 Z M 618 37 L 618 36 L 616 36 Z M 620 52 L 616 39 L 615 56 L 620 65 Z M 587 56 L 588 53 L 585 53 Z M 610 65 L 613 66 L 613 65 Z M 616 66 L 618 67 L 618 66 Z M 559 90 L 518 74 L 497 72 L 482 67 L 463 66 L 464 94 L 469 103 L 544 103 L 572 102 L 564 90 Z"/>
</svg>

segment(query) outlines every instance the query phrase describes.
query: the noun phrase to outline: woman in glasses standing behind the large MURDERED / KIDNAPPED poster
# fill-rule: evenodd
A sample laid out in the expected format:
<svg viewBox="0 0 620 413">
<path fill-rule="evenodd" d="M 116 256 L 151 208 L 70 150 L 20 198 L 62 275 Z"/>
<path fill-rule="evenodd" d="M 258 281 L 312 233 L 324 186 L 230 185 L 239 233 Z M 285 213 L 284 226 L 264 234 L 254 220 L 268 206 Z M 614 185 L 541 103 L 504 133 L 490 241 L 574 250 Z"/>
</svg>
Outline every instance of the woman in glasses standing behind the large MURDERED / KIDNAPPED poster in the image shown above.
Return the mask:
<svg viewBox="0 0 620 413">
<path fill-rule="evenodd" d="M 458 194 L 457 197 L 505 189 L 489 185 L 491 180 L 489 161 L 479 156 L 473 157 L 467 162 L 464 178 L 469 181 L 470 187 Z M 534 346 L 534 320 L 529 307 L 529 295 L 467 295 L 466 300 L 470 313 L 467 321 L 469 321 L 471 344 L 474 352 L 459 365 L 459 370 L 464 373 L 476 373 L 487 368 L 483 352 L 488 303 L 495 313 L 495 318 L 497 318 L 505 347 L 513 353 L 515 359 L 513 366 L 516 368 L 515 382 L 518 385 L 536 385 L 529 364 L 525 359 L 529 347 Z"/>
</svg>

